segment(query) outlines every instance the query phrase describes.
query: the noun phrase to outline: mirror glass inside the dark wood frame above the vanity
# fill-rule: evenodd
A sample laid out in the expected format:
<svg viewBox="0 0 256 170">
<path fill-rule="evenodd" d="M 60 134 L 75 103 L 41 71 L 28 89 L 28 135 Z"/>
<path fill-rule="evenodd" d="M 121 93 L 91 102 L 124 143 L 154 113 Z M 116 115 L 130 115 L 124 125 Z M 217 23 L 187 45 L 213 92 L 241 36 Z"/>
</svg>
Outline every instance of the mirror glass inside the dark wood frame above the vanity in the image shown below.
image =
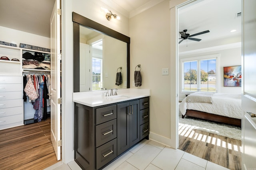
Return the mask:
<svg viewBox="0 0 256 170">
<path fill-rule="evenodd" d="M 127 44 L 80 26 L 80 92 L 127 88 Z M 118 69 L 122 67 L 121 69 Z M 117 72 L 122 84 L 116 86 Z"/>
</svg>

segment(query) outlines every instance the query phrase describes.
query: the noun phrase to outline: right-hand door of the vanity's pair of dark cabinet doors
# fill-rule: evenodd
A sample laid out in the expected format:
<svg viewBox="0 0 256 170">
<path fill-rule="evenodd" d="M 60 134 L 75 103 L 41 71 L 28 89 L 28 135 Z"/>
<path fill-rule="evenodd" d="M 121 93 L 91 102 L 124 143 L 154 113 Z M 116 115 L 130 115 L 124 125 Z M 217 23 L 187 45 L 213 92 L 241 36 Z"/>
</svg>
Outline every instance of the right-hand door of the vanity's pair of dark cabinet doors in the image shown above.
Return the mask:
<svg viewBox="0 0 256 170">
<path fill-rule="evenodd" d="M 130 147 L 140 141 L 140 101 L 130 102 Z"/>
</svg>

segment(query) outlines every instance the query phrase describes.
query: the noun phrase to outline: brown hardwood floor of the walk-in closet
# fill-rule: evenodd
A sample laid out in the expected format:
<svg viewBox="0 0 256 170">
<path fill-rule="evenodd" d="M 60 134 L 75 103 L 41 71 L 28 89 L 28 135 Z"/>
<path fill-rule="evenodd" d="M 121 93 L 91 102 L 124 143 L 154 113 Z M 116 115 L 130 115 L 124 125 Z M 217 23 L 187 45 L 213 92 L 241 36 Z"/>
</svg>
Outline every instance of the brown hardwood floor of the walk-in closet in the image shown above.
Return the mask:
<svg viewBox="0 0 256 170">
<path fill-rule="evenodd" d="M 57 163 L 50 118 L 0 131 L 0 165 L 4 170 L 42 170 Z"/>
</svg>

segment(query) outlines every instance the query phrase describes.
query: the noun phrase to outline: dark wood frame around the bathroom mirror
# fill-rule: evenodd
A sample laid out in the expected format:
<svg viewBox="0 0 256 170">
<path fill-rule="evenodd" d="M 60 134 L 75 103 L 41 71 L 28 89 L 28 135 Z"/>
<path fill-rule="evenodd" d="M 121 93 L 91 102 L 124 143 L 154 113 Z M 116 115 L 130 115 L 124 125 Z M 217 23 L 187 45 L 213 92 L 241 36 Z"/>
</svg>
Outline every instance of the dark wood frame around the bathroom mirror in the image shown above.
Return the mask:
<svg viewBox="0 0 256 170">
<path fill-rule="evenodd" d="M 119 39 L 127 43 L 127 88 L 130 88 L 130 37 L 123 35 L 113 29 L 92 21 L 84 16 L 72 12 L 73 17 L 73 82 L 74 92 L 80 92 L 80 28 L 82 25 L 94 31 L 98 31 L 104 35 Z"/>
</svg>

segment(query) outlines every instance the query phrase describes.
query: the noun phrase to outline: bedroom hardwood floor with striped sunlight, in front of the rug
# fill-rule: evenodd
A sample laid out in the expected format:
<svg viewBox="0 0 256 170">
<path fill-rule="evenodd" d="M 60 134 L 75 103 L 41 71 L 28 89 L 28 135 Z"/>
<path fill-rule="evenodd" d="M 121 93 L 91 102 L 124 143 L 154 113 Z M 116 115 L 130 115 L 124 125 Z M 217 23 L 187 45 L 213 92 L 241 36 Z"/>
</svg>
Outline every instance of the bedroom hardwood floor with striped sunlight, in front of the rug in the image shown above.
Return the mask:
<svg viewBox="0 0 256 170">
<path fill-rule="evenodd" d="M 239 140 L 212 133 L 184 129 L 179 131 L 179 149 L 231 170 L 241 170 Z"/>
</svg>

